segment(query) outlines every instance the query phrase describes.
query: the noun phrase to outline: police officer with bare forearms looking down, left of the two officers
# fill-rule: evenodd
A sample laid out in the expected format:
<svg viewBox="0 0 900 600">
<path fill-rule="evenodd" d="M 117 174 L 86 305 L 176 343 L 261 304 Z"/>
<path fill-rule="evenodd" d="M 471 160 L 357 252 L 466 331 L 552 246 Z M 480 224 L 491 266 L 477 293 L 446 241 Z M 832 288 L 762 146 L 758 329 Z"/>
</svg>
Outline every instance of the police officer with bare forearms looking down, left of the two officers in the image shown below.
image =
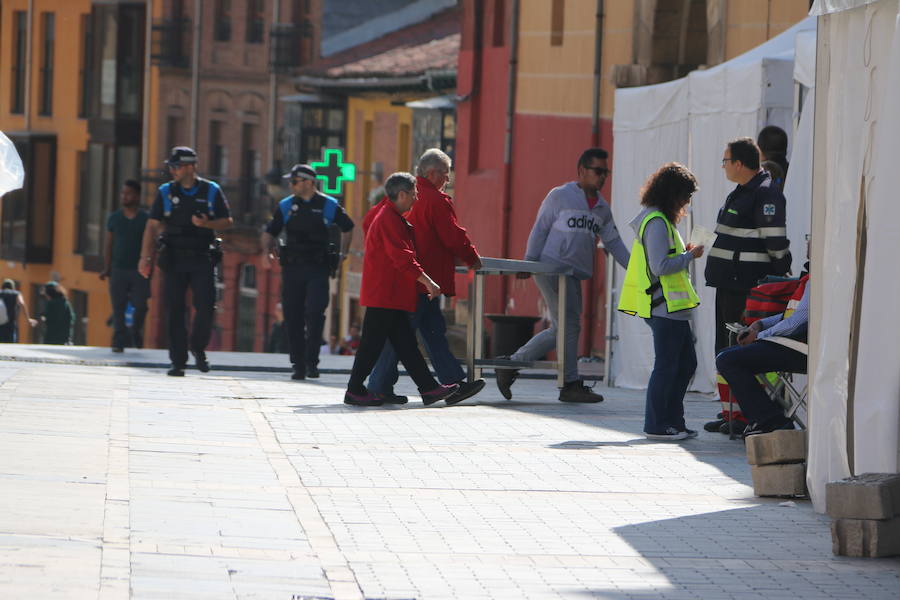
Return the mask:
<svg viewBox="0 0 900 600">
<path fill-rule="evenodd" d="M 168 375 L 183 377 L 189 343 L 185 300 L 188 289 L 194 305 L 190 351 L 197 369 L 209 371 L 206 346 L 212 334 L 216 302 L 215 265 L 221 260 L 216 232 L 231 227 L 233 220 L 218 184 L 197 176 L 196 152 L 176 146 L 166 164 L 172 181 L 160 186 L 150 208 L 138 270 L 149 277 L 154 255 L 158 254 L 172 361 Z"/>
</svg>

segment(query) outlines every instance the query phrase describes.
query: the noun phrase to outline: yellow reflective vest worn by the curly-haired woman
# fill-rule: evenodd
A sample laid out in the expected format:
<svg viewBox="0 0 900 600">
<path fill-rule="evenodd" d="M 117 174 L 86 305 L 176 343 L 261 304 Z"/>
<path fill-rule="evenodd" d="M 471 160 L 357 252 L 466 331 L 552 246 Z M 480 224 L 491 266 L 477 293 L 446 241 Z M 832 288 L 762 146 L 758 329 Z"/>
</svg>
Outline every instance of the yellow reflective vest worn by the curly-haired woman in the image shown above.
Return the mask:
<svg viewBox="0 0 900 600">
<path fill-rule="evenodd" d="M 631 260 L 628 261 L 628 270 L 625 272 L 625 281 L 622 284 L 622 296 L 619 298 L 619 310 L 637 315 L 644 319 L 650 318 L 650 311 L 662 302 L 666 303 L 666 309 L 670 312 L 689 310 L 700 304 L 700 298 L 694 291 L 690 275 L 687 269 L 661 275 L 657 282 L 653 281 L 650 266 L 647 264 L 647 255 L 644 252 L 644 228 L 650 219 L 662 218 L 669 232 L 669 254 L 679 255 L 684 252 L 684 242 L 681 235 L 669 222 L 669 219 L 658 210 L 649 213 L 641 221 L 638 236 L 631 245 Z M 653 302 L 653 293 L 662 287 L 662 298 Z"/>
</svg>

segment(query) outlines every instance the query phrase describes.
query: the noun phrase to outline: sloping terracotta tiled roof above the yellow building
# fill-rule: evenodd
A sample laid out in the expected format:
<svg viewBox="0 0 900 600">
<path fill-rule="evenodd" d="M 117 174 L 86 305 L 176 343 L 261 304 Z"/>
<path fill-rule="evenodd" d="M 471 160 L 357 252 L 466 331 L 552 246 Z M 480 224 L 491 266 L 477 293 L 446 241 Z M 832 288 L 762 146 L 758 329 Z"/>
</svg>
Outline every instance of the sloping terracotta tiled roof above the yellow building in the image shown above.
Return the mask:
<svg viewBox="0 0 900 600">
<path fill-rule="evenodd" d="M 459 9 L 447 10 L 421 23 L 323 58 L 302 69 L 300 75 L 374 78 L 456 69 L 459 22 Z"/>
</svg>

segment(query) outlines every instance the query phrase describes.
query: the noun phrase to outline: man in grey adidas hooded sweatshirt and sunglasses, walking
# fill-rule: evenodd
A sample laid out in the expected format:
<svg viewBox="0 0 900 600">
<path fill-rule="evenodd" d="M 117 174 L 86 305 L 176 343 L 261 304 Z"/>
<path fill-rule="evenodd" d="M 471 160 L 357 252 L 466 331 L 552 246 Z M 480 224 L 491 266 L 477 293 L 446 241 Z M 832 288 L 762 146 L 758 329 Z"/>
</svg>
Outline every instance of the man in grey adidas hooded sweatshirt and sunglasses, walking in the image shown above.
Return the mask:
<svg viewBox="0 0 900 600">
<path fill-rule="evenodd" d="M 574 274 L 566 277 L 566 360 L 565 386 L 559 393 L 561 402 L 602 402 L 578 377 L 578 336 L 581 333 L 581 282 L 594 273 L 597 238 L 603 240 L 623 268 L 628 268 L 629 252 L 616 224 L 609 204 L 600 195 L 600 188 L 609 175 L 609 155 L 601 148 L 589 148 L 578 159 L 578 180 L 550 190 L 538 211 L 528 236 L 525 260 L 571 267 Z M 529 274 L 520 273 L 520 278 Z M 559 278 L 556 275 L 535 275 L 535 283 L 550 310 L 552 324 L 519 348 L 511 360 L 540 360 L 556 348 L 556 315 L 559 306 Z M 497 387 L 507 400 L 518 375 L 517 369 L 497 369 Z"/>
</svg>

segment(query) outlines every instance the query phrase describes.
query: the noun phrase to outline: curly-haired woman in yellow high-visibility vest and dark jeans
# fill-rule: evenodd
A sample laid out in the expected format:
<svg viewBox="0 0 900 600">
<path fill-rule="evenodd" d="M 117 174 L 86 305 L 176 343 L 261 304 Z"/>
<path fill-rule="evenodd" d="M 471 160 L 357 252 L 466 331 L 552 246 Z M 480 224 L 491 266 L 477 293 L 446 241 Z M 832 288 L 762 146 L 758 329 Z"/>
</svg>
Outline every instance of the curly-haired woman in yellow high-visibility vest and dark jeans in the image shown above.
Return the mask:
<svg viewBox="0 0 900 600">
<path fill-rule="evenodd" d="M 642 317 L 653 331 L 656 357 L 647 384 L 644 434 L 654 440 L 697 436 L 684 422 L 684 394 L 697 369 L 690 319 L 700 304 L 688 267 L 703 255 L 703 246 L 685 247 L 675 229 L 695 191 L 697 179 L 687 167 L 665 164 L 644 184 L 644 209 L 629 223 L 637 238 L 619 310 Z"/>
</svg>

